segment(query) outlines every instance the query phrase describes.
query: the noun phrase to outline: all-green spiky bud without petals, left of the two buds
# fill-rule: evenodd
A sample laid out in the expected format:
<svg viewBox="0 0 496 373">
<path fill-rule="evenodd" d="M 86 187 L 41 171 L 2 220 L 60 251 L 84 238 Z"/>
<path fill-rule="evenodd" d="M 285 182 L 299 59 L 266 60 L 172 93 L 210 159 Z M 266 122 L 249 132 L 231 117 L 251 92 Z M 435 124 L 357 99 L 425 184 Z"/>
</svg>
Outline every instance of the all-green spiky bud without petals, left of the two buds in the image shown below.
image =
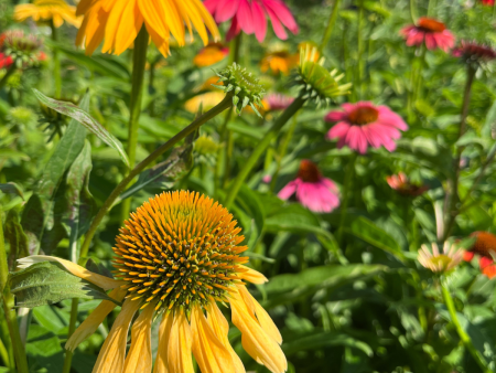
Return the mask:
<svg viewBox="0 0 496 373">
<path fill-rule="evenodd" d="M 261 117 L 256 106 L 261 106 L 266 89 L 257 77 L 236 63 L 215 73 L 219 78 L 218 82 L 224 82 L 224 85 L 213 84 L 213 86 L 233 95 L 233 106 L 238 115 L 249 105 Z"/>
</svg>

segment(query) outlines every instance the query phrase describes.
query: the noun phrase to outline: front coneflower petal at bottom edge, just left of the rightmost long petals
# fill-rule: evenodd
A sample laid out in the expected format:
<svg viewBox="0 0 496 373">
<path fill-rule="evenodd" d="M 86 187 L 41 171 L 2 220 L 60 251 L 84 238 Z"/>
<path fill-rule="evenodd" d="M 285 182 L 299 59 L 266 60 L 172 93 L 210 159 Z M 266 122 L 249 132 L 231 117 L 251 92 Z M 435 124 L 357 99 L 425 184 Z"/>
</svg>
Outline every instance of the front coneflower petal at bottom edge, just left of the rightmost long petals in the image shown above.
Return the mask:
<svg viewBox="0 0 496 373">
<path fill-rule="evenodd" d="M 202 373 L 234 372 L 235 366 L 229 351 L 215 335 L 200 306 L 192 310 L 191 328 L 193 355 Z"/>
</svg>

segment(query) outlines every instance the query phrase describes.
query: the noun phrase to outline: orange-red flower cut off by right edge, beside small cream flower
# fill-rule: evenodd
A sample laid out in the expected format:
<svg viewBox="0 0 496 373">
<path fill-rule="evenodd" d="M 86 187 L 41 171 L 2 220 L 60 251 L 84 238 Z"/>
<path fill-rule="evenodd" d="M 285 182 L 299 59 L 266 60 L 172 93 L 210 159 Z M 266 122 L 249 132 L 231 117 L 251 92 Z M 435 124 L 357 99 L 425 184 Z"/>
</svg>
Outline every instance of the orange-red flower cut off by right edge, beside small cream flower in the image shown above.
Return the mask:
<svg viewBox="0 0 496 373">
<path fill-rule="evenodd" d="M 474 232 L 471 237 L 475 237 L 472 247 L 465 252 L 464 260 L 471 262 L 476 255 L 478 256 L 478 266 L 483 274 L 489 278 L 496 276 L 496 235 L 489 232 Z"/>
</svg>

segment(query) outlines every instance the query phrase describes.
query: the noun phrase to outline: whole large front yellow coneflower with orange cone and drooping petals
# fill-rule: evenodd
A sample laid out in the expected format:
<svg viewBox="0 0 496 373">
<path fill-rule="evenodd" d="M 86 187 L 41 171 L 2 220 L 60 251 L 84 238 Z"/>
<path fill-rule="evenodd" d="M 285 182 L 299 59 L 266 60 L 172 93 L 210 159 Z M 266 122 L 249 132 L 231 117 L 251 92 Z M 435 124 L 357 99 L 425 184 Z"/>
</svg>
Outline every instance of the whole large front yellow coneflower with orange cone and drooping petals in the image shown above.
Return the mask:
<svg viewBox="0 0 496 373">
<path fill-rule="evenodd" d="M 125 300 L 105 340 L 94 373 L 151 372 L 151 323 L 162 315 L 159 352 L 153 373 L 193 373 L 192 353 L 203 373 L 244 373 L 229 344 L 228 322 L 217 301 L 229 303 L 233 323 L 241 331 L 245 350 L 271 372 L 284 372 L 287 360 L 281 334 L 267 311 L 249 294 L 244 281 L 262 284 L 267 278 L 244 264 L 233 215 L 198 193 L 168 192 L 150 199 L 125 222 L 114 247 L 119 280 L 93 274 L 67 260 L 32 256 L 22 266 L 47 258 L 74 275 Z M 96 331 L 116 306 L 104 300 L 67 341 L 74 350 Z M 126 355 L 129 327 L 131 347 Z"/>
</svg>

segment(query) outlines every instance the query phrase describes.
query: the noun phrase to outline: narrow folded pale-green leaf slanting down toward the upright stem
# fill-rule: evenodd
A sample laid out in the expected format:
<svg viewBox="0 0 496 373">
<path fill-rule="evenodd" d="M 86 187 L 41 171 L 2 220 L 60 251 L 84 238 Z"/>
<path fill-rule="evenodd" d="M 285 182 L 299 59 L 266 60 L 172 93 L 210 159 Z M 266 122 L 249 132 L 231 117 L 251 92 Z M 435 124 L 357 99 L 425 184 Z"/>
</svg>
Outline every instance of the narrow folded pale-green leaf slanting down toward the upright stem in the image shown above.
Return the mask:
<svg viewBox="0 0 496 373">
<path fill-rule="evenodd" d="M 96 135 L 101 141 L 107 143 L 109 147 L 114 148 L 118 151 L 120 158 L 129 167 L 128 154 L 122 147 L 122 143 L 109 131 L 107 131 L 104 126 L 101 126 L 96 119 L 94 119 L 88 113 L 87 109 L 83 109 L 82 107 L 77 107 L 71 103 L 60 102 L 53 98 L 48 98 L 43 95 L 40 90 L 33 89 L 34 95 L 37 97 L 40 102 L 42 102 L 47 107 L 54 109 L 57 113 L 66 115 L 83 126 L 85 126 L 91 134 Z"/>
</svg>

